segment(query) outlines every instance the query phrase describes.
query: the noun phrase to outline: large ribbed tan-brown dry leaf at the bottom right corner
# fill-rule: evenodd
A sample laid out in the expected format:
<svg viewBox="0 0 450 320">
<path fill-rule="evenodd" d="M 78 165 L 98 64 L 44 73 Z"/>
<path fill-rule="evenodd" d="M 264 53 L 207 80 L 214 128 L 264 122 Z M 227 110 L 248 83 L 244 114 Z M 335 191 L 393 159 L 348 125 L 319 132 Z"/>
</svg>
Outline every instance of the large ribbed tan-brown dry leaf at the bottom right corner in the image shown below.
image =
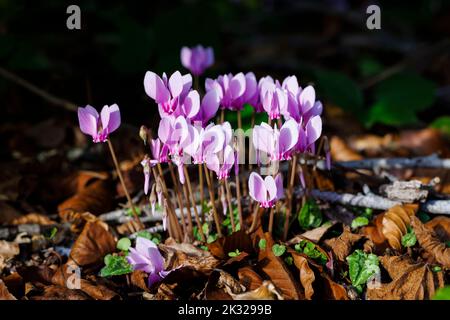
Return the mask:
<svg viewBox="0 0 450 320">
<path fill-rule="evenodd" d="M 444 284 L 442 272 L 433 272 L 424 263 L 414 263 L 407 256 L 382 256 L 381 264 L 392 282 L 368 286 L 369 300 L 423 300 L 434 296 Z"/>
</svg>

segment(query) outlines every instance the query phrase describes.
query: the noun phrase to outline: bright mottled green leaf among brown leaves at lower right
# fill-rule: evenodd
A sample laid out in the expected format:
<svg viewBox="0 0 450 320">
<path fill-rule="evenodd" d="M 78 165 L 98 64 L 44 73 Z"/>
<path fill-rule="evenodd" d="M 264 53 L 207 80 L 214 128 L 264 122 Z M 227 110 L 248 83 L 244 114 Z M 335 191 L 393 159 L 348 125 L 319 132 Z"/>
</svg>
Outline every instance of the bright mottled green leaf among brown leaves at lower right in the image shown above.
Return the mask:
<svg viewBox="0 0 450 320">
<path fill-rule="evenodd" d="M 380 272 L 378 257 L 373 253 L 367 254 L 362 250 L 355 250 L 347 257 L 347 262 L 352 285 L 359 291 L 370 277 Z"/>
</svg>

